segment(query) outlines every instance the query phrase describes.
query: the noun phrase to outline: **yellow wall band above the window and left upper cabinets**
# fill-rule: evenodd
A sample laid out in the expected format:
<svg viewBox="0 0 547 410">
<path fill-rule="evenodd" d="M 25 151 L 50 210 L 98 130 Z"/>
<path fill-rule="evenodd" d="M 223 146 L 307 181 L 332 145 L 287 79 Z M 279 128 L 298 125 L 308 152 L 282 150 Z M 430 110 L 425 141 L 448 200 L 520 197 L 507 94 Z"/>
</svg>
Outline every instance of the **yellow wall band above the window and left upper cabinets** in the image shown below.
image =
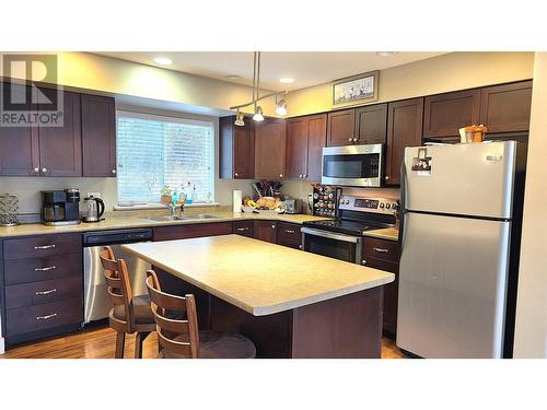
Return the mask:
<svg viewBox="0 0 547 410">
<path fill-rule="evenodd" d="M 246 103 L 252 95 L 248 86 L 89 52 L 59 52 L 58 65 L 59 84 L 113 94 L 220 109 Z M 13 77 L 24 78 L 24 73 Z M 274 98 L 264 99 L 260 105 L 265 114 L 274 114 Z"/>
</svg>

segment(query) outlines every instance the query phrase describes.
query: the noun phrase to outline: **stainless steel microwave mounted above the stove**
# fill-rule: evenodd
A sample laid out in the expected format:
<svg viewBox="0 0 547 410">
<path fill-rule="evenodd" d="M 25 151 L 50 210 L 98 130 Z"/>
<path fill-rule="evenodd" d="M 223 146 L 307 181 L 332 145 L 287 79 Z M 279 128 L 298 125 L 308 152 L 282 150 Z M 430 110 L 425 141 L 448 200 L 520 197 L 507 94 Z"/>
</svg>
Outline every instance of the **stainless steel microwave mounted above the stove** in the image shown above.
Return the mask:
<svg viewBox="0 0 547 410">
<path fill-rule="evenodd" d="M 383 144 L 324 148 L 321 183 L 350 187 L 380 187 L 383 148 Z"/>
</svg>

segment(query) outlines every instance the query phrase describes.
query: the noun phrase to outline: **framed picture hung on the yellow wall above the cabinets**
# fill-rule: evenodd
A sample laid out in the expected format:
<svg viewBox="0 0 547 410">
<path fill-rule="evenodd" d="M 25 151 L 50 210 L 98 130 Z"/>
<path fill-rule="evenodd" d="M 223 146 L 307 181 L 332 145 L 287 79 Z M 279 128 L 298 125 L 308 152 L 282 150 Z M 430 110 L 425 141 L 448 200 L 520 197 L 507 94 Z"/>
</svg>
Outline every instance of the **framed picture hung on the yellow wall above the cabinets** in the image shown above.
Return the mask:
<svg viewBox="0 0 547 410">
<path fill-rule="evenodd" d="M 377 99 L 379 71 L 333 82 L 333 105 L 358 104 Z"/>
</svg>

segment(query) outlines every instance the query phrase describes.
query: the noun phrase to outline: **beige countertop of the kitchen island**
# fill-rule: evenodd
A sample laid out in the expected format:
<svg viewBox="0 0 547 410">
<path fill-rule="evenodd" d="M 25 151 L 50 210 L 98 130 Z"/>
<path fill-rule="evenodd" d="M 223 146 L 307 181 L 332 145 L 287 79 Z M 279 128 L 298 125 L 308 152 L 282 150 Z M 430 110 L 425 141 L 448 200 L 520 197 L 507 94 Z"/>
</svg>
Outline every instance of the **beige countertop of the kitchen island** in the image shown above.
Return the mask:
<svg viewBox="0 0 547 410">
<path fill-rule="evenodd" d="M 255 316 L 270 315 L 393 282 L 377 269 L 238 235 L 123 247 Z"/>
</svg>

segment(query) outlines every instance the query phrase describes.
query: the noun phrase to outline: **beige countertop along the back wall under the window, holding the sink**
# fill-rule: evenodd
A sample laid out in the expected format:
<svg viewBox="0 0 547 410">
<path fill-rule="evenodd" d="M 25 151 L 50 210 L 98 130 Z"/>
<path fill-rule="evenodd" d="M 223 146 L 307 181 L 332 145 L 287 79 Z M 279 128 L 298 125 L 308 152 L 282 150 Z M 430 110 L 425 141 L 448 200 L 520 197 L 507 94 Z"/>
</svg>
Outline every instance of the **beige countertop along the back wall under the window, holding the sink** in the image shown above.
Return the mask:
<svg viewBox="0 0 547 410">
<path fill-rule="evenodd" d="M 40 235 L 40 234 L 58 234 L 70 232 L 89 232 L 89 231 L 105 231 L 128 227 L 154 227 L 165 225 L 188 225 L 195 223 L 212 223 L 212 222 L 231 222 L 242 220 L 269 220 L 282 221 L 292 223 L 302 223 L 304 221 L 324 220 L 326 218 L 313 216 L 307 214 L 258 214 L 258 213 L 234 213 L 226 211 L 210 210 L 202 213 L 216 215 L 218 218 L 209 220 L 181 220 L 181 221 L 162 221 L 154 222 L 144 219 L 143 216 L 110 216 L 101 222 L 80 223 L 78 225 L 65 226 L 46 226 L 39 223 L 23 224 L 12 227 L 0 226 L 0 238 L 14 237 L 24 235 Z M 191 216 L 191 212 L 185 213 Z"/>
</svg>

